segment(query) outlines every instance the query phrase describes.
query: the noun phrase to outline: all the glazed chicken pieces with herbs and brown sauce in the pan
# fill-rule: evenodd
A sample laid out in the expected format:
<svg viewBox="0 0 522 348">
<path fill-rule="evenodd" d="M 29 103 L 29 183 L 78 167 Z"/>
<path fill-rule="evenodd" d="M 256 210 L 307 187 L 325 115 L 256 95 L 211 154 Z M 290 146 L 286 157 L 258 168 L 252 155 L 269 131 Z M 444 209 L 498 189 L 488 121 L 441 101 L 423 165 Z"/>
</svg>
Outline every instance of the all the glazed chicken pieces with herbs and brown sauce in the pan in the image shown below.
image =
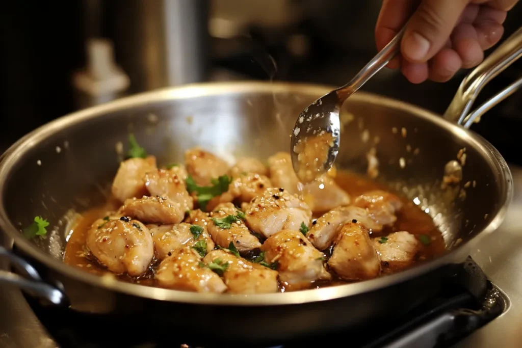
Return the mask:
<svg viewBox="0 0 522 348">
<path fill-rule="evenodd" d="M 230 166 L 199 147 L 162 165 L 141 150 L 120 164 L 114 199 L 74 228 L 67 263 L 168 289 L 261 294 L 373 279 L 444 250 L 417 206 L 335 168 L 303 185 L 288 152 Z"/>
</svg>

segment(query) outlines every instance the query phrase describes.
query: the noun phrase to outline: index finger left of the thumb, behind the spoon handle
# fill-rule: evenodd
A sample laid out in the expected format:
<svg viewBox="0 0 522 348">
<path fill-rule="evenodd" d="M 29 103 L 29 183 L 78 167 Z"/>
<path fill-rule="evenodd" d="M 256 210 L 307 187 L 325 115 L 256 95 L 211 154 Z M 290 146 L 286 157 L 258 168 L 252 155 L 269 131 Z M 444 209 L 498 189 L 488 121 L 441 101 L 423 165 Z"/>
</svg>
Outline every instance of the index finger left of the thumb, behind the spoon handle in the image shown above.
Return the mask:
<svg viewBox="0 0 522 348">
<path fill-rule="evenodd" d="M 404 23 L 410 18 L 418 0 L 384 0 L 381 12 L 375 25 L 375 43 L 381 51 L 388 42 L 392 41 Z M 398 58 L 392 59 L 387 65 L 389 68 L 399 67 Z"/>
</svg>

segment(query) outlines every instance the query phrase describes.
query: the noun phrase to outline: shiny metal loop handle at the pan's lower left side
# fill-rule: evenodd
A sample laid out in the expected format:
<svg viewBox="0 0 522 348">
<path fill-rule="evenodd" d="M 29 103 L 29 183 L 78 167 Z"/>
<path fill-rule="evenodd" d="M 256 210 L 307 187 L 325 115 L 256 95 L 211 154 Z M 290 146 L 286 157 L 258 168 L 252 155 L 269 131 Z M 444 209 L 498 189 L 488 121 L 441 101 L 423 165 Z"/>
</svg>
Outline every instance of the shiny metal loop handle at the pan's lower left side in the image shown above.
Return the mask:
<svg viewBox="0 0 522 348">
<path fill-rule="evenodd" d="M 67 306 L 67 296 L 56 287 L 42 281 L 38 271 L 26 260 L 12 251 L 0 246 L 0 257 L 7 258 L 11 265 L 20 273 L 0 270 L 0 284 L 10 284 L 19 287 L 33 296 L 45 299 L 54 305 Z"/>
</svg>

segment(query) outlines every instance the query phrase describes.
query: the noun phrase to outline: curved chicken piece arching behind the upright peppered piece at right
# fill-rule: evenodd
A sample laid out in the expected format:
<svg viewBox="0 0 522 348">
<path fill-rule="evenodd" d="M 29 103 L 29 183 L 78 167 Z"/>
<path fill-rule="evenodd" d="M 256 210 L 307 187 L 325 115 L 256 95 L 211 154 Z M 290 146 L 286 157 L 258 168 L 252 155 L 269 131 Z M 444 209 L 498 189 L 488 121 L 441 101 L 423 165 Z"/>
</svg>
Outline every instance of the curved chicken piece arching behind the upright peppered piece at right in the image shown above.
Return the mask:
<svg viewBox="0 0 522 348">
<path fill-rule="evenodd" d="M 360 222 L 371 231 L 381 231 L 383 226 L 376 224 L 370 214 L 359 207 L 339 207 L 332 209 L 312 223 L 308 238 L 319 250 L 330 247 L 341 227 L 347 222 Z"/>
</svg>

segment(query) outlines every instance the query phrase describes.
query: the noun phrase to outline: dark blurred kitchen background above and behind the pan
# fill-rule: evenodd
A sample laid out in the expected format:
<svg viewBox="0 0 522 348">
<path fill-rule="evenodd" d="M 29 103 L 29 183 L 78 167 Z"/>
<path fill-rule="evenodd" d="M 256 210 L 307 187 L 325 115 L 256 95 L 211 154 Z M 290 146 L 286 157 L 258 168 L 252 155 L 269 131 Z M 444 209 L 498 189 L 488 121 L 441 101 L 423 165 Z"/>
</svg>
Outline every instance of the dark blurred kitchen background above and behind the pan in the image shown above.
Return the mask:
<svg viewBox="0 0 522 348">
<path fill-rule="evenodd" d="M 380 5 L 350 0 L 3 2 L 0 149 L 56 117 L 167 86 L 244 79 L 343 85 L 376 53 Z M 509 13 L 504 37 L 522 24 L 520 18 L 521 3 Z M 412 85 L 385 69 L 363 90 L 443 113 L 466 74 L 461 71 L 447 83 Z M 522 62 L 515 63 L 481 98 L 521 75 Z M 515 163 L 522 163 L 521 92 L 472 127 Z"/>
</svg>

